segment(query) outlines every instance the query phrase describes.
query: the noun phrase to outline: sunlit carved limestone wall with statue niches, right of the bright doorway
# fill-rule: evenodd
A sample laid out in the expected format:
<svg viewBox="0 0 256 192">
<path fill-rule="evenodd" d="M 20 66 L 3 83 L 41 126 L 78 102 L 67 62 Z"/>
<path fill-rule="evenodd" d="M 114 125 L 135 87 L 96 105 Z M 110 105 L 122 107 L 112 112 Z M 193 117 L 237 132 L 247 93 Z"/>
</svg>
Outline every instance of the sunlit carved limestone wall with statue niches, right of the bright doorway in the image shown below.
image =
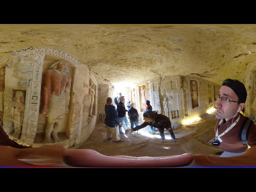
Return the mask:
<svg viewBox="0 0 256 192">
<path fill-rule="evenodd" d="M 143 119 L 141 87 L 146 88 L 146 100 L 150 100 L 153 110 L 168 116 L 172 124 L 182 124 L 184 120 L 202 116 L 215 107 L 215 94 L 220 86 L 197 76 L 168 76 L 140 83 L 136 88 L 136 103 L 140 120 Z M 133 88 L 132 88 L 133 89 Z"/>
</svg>

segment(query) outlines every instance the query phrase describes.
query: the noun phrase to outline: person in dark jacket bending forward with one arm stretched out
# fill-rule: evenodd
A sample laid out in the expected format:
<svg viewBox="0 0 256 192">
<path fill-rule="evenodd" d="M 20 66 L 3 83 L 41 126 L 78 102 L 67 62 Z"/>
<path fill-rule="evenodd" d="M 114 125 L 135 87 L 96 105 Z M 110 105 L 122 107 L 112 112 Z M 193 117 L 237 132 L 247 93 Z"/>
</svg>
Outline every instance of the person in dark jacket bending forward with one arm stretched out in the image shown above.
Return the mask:
<svg viewBox="0 0 256 192">
<path fill-rule="evenodd" d="M 151 110 L 146 110 L 143 113 L 143 119 L 145 120 L 144 123 L 142 123 L 139 126 L 136 126 L 135 128 L 129 129 L 127 131 L 137 131 L 140 130 L 146 126 L 153 126 L 155 128 L 158 128 L 158 131 L 160 132 L 160 136 L 162 138 L 162 143 L 165 142 L 166 138 L 164 136 L 164 129 L 166 128 L 168 130 L 168 132 L 170 133 L 172 139 L 174 140 L 174 142 L 176 142 L 176 138 L 174 135 L 174 132 L 172 130 L 172 124 L 171 121 L 168 117 L 162 115 L 162 114 L 157 114 L 156 112 L 153 112 Z"/>
</svg>

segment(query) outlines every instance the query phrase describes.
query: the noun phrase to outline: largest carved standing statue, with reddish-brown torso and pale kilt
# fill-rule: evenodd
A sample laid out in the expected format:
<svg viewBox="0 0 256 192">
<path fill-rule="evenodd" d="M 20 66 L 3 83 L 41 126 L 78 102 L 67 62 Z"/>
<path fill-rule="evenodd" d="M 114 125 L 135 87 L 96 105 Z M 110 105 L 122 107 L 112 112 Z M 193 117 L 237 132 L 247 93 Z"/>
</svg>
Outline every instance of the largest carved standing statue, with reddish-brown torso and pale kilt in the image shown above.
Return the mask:
<svg viewBox="0 0 256 192">
<path fill-rule="evenodd" d="M 68 114 L 71 77 L 65 62 L 54 63 L 44 73 L 41 114 L 46 116 L 44 143 L 60 141 L 58 132 L 65 114 Z"/>
</svg>

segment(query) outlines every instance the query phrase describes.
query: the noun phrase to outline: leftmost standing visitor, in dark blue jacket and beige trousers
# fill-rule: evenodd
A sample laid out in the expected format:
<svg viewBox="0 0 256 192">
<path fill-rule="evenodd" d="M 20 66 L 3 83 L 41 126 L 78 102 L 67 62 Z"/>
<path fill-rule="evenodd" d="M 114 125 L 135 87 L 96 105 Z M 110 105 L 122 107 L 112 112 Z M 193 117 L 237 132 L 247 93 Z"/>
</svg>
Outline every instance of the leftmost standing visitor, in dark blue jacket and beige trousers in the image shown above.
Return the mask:
<svg viewBox="0 0 256 192">
<path fill-rule="evenodd" d="M 122 142 L 118 137 L 118 124 L 120 123 L 120 118 L 117 116 L 116 107 L 113 104 L 112 98 L 108 97 L 105 105 L 105 124 L 107 126 L 107 138 L 112 139 L 116 142 Z"/>
</svg>

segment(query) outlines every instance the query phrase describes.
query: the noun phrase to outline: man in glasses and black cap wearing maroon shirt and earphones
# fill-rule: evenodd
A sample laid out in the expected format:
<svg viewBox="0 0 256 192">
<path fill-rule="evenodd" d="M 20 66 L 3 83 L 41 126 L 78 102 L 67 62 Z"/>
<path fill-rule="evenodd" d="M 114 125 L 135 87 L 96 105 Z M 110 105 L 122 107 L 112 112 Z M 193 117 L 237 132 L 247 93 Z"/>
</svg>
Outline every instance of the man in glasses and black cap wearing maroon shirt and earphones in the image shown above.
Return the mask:
<svg viewBox="0 0 256 192">
<path fill-rule="evenodd" d="M 219 146 L 220 157 L 238 156 L 246 152 L 248 145 L 256 145 L 256 125 L 240 113 L 244 111 L 247 91 L 244 84 L 236 79 L 226 79 L 216 94 L 216 118 L 218 119 L 214 133 L 215 137 L 209 141 Z M 241 132 L 248 122 L 247 143 L 243 142 Z M 246 124 L 247 124 L 246 122 Z"/>
</svg>

